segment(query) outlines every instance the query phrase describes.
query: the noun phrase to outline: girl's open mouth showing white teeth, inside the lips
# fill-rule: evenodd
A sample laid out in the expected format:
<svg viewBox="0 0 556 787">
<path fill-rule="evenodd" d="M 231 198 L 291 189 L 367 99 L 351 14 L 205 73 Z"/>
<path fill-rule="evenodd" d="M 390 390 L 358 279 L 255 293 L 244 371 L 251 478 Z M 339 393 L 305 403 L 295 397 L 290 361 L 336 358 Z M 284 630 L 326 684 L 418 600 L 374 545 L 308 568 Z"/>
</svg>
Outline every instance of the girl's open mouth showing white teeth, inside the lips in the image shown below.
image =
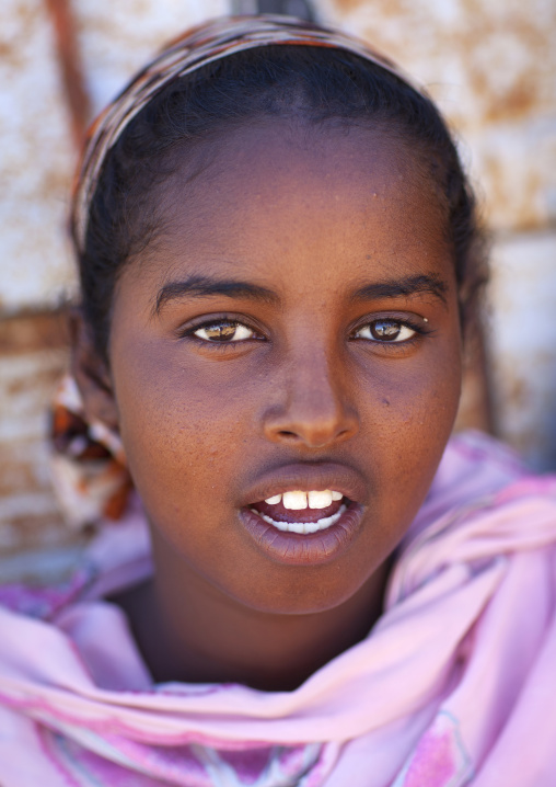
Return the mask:
<svg viewBox="0 0 556 787">
<path fill-rule="evenodd" d="M 335 490 L 292 490 L 253 503 L 248 509 L 278 531 L 309 535 L 335 525 L 349 504 Z"/>
</svg>

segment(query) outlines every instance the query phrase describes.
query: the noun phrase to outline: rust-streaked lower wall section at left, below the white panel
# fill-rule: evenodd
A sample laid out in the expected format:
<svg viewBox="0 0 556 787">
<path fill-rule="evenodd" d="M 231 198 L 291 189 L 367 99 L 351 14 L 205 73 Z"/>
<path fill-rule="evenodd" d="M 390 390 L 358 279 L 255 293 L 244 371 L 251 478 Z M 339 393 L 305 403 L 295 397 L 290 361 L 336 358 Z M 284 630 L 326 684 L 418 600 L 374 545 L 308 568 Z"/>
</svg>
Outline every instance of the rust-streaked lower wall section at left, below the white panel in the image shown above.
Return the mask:
<svg viewBox="0 0 556 787">
<path fill-rule="evenodd" d="M 76 539 L 48 474 L 48 406 L 67 363 L 66 315 L 0 321 L 0 554 Z"/>
</svg>

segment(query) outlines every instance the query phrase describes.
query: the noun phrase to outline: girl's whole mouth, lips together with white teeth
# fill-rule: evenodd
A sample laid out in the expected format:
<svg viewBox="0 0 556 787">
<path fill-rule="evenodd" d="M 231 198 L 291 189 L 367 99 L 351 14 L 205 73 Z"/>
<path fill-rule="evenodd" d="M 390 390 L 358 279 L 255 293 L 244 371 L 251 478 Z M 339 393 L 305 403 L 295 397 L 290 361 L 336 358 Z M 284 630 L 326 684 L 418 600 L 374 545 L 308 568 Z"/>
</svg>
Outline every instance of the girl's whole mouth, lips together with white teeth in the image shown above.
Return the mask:
<svg viewBox="0 0 556 787">
<path fill-rule="evenodd" d="M 297 481 L 297 468 L 282 468 L 286 472 L 280 481 L 264 483 L 258 488 L 264 495 L 259 500 L 252 498 L 240 509 L 244 528 L 273 560 L 315 566 L 336 559 L 351 546 L 364 511 L 358 499 L 368 492 L 346 468 L 329 468 L 334 469 L 336 483 L 331 471 L 323 472 L 324 468 L 313 472 L 300 468 Z M 320 481 L 316 472 L 321 474 Z"/>
</svg>

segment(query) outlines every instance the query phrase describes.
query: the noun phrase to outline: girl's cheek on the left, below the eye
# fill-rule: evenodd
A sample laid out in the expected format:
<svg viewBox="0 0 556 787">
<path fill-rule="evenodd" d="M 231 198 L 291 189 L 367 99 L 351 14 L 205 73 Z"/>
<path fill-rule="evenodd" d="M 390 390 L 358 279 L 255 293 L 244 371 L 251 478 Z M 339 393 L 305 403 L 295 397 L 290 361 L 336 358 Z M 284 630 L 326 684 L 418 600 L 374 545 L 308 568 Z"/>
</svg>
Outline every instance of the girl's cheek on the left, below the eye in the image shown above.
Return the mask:
<svg viewBox="0 0 556 787">
<path fill-rule="evenodd" d="M 183 521 L 207 507 L 207 494 L 213 509 L 227 495 L 229 502 L 254 436 L 257 372 L 225 361 L 185 362 L 179 349 L 159 342 L 126 350 L 114 364 L 119 425 L 147 509 L 157 521 Z"/>
</svg>

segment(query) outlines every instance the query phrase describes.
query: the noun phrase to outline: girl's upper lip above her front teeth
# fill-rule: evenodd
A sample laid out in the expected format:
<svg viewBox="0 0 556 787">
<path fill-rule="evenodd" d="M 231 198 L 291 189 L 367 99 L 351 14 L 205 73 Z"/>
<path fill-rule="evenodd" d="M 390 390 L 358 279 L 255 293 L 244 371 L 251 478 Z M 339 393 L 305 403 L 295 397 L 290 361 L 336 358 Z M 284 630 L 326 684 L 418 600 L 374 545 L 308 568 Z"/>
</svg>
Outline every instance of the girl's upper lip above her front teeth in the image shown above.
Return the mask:
<svg viewBox="0 0 556 787">
<path fill-rule="evenodd" d="M 242 494 L 242 507 L 275 494 L 283 494 L 293 490 L 310 492 L 311 490 L 334 490 L 349 500 L 364 504 L 369 488 L 361 476 L 346 465 L 333 461 L 291 463 L 266 471 Z"/>
</svg>

